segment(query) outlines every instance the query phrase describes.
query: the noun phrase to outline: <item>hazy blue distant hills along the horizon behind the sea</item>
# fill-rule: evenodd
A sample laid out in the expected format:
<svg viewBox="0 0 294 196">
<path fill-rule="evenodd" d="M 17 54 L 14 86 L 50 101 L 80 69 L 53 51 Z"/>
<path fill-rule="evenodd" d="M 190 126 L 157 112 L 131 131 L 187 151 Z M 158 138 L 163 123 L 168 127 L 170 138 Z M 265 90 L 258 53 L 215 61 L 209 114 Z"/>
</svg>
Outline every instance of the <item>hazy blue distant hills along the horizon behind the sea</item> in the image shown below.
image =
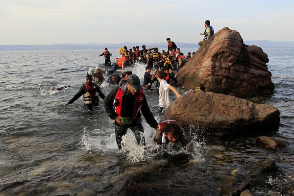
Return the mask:
<svg viewBox="0 0 294 196">
<path fill-rule="evenodd" d="M 294 42 L 273 42 L 273 41 L 244 41 L 246 45 L 256 45 L 261 48 L 294 48 Z M 0 45 L 0 51 L 25 51 L 25 50 L 85 50 L 85 49 L 118 49 L 123 46 L 132 48 L 133 46 L 146 45 L 147 48 L 158 47 L 159 49 L 166 49 L 167 43 L 131 43 L 124 42 L 120 44 L 53 44 L 53 45 Z M 198 48 L 198 44 L 176 42 L 179 48 Z"/>
</svg>

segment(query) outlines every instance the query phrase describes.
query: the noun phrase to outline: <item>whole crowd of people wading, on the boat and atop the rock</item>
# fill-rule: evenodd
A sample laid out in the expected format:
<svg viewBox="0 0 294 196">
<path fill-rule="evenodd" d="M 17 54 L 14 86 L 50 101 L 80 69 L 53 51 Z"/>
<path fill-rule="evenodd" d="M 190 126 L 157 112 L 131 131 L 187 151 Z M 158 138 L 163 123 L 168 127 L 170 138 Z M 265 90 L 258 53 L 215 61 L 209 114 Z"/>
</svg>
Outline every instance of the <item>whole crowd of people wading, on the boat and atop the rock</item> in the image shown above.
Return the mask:
<svg viewBox="0 0 294 196">
<path fill-rule="evenodd" d="M 205 21 L 205 31 L 200 33 L 204 35 L 204 40 L 198 44 L 201 46 L 206 40 L 210 39 L 214 34 L 214 29 L 210 25 L 210 21 Z M 88 110 L 93 110 L 94 106 L 98 106 L 99 97 L 103 99 L 104 108 L 110 118 L 110 122 L 114 123 L 116 142 L 118 148 L 122 148 L 122 136 L 126 134 L 127 129 L 132 130 L 135 135 L 138 145 L 145 145 L 144 128 L 142 126 L 141 116 L 145 117 L 146 122 L 156 129 L 154 142 L 156 144 L 166 143 L 185 143 L 185 137 L 180 126 L 172 120 L 167 120 L 157 123 L 151 113 L 144 90 L 151 88 L 152 84 L 157 81 L 155 87 L 159 89 L 159 109 L 162 111 L 168 108 L 170 101 L 170 90 L 180 98 L 181 95 L 177 92 L 174 86 L 177 85 L 174 69 L 181 69 L 185 64 L 193 58 L 193 53 L 188 52 L 186 56 L 177 48 L 176 44 L 170 38 L 166 39 L 168 43 L 167 51 L 158 51 L 157 47 L 146 49 L 143 45 L 140 50 L 139 46 L 127 49 L 126 46 L 120 48 L 122 57 L 117 58 L 112 63 L 112 68 L 109 73 L 113 73 L 107 79 L 109 85 L 117 85 L 108 95 L 104 95 L 98 84 L 105 81 L 103 74 L 100 73 L 100 68 L 94 69 L 88 67 L 86 82 L 80 87 L 79 91 L 68 101 L 65 106 L 73 103 L 79 97 L 83 96 L 84 107 Z M 153 50 L 153 51 L 152 51 Z M 112 54 L 107 48 L 98 56 L 104 56 L 105 66 L 110 65 L 110 56 Z M 125 65 L 132 65 L 136 62 L 146 64 L 143 87 L 140 83 L 140 78 L 131 71 L 125 71 L 122 75 L 114 73 L 118 68 L 124 70 Z M 151 70 L 154 73 L 151 74 Z M 93 82 L 93 77 L 95 82 Z M 142 113 L 142 115 L 141 115 Z"/>
</svg>

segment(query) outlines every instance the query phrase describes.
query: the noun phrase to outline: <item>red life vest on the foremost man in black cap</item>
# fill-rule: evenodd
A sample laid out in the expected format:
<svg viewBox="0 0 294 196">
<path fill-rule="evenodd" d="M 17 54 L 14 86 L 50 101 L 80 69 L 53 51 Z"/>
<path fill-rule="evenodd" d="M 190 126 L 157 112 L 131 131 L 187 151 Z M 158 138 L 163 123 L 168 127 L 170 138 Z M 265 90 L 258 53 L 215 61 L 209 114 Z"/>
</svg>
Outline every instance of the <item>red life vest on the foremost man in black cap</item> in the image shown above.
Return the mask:
<svg viewBox="0 0 294 196">
<path fill-rule="evenodd" d="M 123 113 L 125 111 L 125 103 L 123 102 L 123 97 L 124 97 L 125 92 L 123 91 L 123 89 L 119 86 L 119 90 L 117 92 L 117 94 L 115 95 L 114 98 L 114 108 L 115 108 L 115 112 L 117 113 L 117 115 L 119 117 L 123 117 Z M 136 98 L 135 101 L 135 105 L 134 105 L 134 111 L 133 111 L 133 115 L 132 115 L 132 122 L 135 121 L 137 114 L 139 112 L 139 110 L 141 109 L 141 106 L 143 104 L 144 101 L 144 93 L 143 93 L 143 89 L 141 88 L 139 91 L 139 94 Z"/>
</svg>

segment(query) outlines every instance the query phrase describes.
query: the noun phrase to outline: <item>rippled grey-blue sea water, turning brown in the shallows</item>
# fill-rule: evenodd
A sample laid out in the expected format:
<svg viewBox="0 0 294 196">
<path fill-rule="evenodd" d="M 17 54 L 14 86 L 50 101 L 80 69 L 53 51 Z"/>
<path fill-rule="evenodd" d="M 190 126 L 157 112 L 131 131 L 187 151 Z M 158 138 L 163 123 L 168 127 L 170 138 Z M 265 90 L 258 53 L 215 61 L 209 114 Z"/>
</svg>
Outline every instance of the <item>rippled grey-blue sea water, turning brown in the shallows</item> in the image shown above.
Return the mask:
<svg viewBox="0 0 294 196">
<path fill-rule="evenodd" d="M 185 55 L 196 51 L 181 50 Z M 263 50 L 275 93 L 252 101 L 281 112 L 279 131 L 267 135 L 290 145 L 275 151 L 255 146 L 260 135 L 193 136 L 187 150 L 163 149 L 152 144 L 155 130 L 145 120 L 147 146 L 137 147 L 129 131 L 119 151 L 102 100 L 94 111 L 84 110 L 82 98 L 64 106 L 85 82 L 87 67 L 104 62 L 97 57 L 103 50 L 0 52 L 0 195 L 219 196 L 245 181 L 249 164 L 268 158 L 280 174 L 268 176 L 268 186 L 253 188 L 265 194 L 279 191 L 274 185 L 294 177 L 294 49 Z M 144 65 L 131 69 L 143 82 Z M 49 92 L 51 86 L 64 85 L 71 88 Z M 107 95 L 112 88 L 102 84 L 101 91 Z M 145 94 L 156 120 L 162 120 L 158 91 Z"/>
</svg>

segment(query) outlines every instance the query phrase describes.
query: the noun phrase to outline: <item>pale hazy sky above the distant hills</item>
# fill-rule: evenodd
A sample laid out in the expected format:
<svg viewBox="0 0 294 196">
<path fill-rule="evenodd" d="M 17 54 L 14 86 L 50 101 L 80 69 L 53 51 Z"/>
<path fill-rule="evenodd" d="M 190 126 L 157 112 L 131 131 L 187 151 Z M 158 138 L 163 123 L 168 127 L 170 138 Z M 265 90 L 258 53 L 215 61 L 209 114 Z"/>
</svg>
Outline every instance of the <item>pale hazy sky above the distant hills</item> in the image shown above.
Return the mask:
<svg viewBox="0 0 294 196">
<path fill-rule="evenodd" d="M 205 20 L 251 40 L 294 41 L 292 0 L 0 0 L 0 45 L 198 43 Z"/>
</svg>

